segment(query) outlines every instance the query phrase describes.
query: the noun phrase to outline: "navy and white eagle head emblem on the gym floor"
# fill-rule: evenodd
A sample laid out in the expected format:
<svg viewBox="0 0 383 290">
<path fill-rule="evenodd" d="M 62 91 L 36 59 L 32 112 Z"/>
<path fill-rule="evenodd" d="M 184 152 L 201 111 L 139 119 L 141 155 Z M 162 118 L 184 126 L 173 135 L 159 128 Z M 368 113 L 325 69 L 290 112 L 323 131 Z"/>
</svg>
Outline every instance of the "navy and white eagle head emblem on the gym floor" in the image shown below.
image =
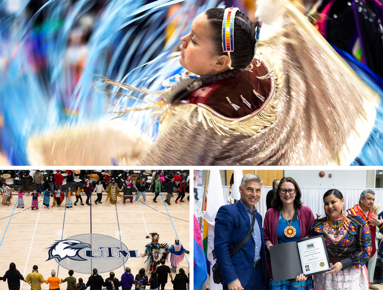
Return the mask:
<svg viewBox="0 0 383 290">
<path fill-rule="evenodd" d="M 75 239 L 65 239 L 63 241 L 56 241 L 49 249 L 49 257 L 46 261 L 57 258 L 60 261 L 69 258 L 75 261 L 87 261 L 80 257 L 79 251 L 84 248 L 90 248 L 90 244 L 82 243 Z"/>
</svg>

